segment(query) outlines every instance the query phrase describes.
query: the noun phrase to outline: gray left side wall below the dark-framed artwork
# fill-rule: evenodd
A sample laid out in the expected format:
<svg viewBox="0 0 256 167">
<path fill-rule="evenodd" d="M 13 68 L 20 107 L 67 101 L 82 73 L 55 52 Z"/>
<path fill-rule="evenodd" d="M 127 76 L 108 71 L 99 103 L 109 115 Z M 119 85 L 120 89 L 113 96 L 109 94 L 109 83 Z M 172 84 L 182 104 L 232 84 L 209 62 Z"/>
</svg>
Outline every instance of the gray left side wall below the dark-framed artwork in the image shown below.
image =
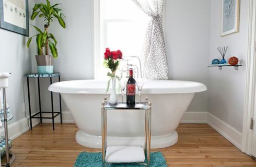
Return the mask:
<svg viewBox="0 0 256 167">
<path fill-rule="evenodd" d="M 33 5 L 34 1 L 29 1 L 30 9 Z M 29 23 L 34 23 L 34 21 L 30 20 Z M 30 29 L 30 34 L 33 33 L 34 30 Z M 31 57 L 31 52 L 26 47 L 27 39 L 28 37 L 24 35 L 0 29 L 0 72 L 12 73 L 9 77 L 9 87 L 6 89 L 7 102 L 14 114 L 10 123 L 25 117 L 25 112 L 23 112 L 23 103 L 27 100 L 25 74 L 31 72 L 31 60 L 34 58 Z M 24 94 L 24 88 L 26 94 Z M 33 81 L 31 81 L 31 97 L 34 97 Z M 26 110 L 28 112 L 27 107 Z M 32 110 L 36 111 L 36 104 L 33 101 Z"/>
</svg>

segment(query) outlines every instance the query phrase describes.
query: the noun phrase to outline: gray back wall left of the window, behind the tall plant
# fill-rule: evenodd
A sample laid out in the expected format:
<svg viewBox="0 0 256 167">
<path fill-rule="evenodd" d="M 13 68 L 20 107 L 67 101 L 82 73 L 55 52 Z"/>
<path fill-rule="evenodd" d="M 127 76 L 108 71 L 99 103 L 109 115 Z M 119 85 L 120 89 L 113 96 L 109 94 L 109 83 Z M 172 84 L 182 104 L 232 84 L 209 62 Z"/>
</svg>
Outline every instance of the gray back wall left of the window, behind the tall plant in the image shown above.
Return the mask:
<svg viewBox="0 0 256 167">
<path fill-rule="evenodd" d="M 37 0 L 36 3 L 44 3 Z M 54 20 L 49 31 L 57 39 L 59 57 L 54 59 L 54 71 L 61 72 L 61 80 L 77 80 L 94 78 L 93 55 L 93 0 L 51 1 L 51 4 L 62 3 L 60 8 L 66 16 L 66 29 L 63 29 L 57 20 Z M 43 27 L 43 19 L 37 19 L 38 27 Z M 34 53 L 36 54 L 36 53 Z M 36 65 L 36 61 L 33 62 Z M 36 70 L 35 70 L 36 71 Z M 54 81 L 57 81 L 54 79 Z M 51 99 L 48 91 L 49 79 L 41 80 L 43 111 L 51 110 Z M 54 93 L 54 109 L 59 110 L 59 97 Z M 63 111 L 68 111 L 63 102 Z"/>
</svg>

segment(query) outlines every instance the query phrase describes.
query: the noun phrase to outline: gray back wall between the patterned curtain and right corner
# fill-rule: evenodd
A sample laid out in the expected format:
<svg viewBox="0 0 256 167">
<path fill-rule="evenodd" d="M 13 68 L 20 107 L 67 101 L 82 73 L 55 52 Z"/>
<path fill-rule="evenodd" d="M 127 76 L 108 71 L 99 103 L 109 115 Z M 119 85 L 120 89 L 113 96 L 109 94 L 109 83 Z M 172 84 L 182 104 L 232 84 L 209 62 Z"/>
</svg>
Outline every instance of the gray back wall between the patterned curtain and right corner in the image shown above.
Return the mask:
<svg viewBox="0 0 256 167">
<path fill-rule="evenodd" d="M 210 1 L 167 0 L 165 40 L 169 74 L 174 80 L 208 87 Z M 208 91 L 196 93 L 188 111 L 208 111 Z"/>
</svg>

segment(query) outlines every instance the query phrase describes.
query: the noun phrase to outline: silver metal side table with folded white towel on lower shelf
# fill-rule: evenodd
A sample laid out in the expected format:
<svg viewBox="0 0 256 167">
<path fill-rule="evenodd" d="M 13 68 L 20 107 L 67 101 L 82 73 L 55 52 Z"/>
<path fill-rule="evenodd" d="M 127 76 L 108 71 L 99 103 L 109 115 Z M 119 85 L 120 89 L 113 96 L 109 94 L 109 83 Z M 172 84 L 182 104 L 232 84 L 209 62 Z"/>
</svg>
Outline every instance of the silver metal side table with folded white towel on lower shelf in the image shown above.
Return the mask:
<svg viewBox="0 0 256 167">
<path fill-rule="evenodd" d="M 107 147 L 107 111 L 108 110 L 143 110 L 145 111 L 145 145 L 135 146 L 109 146 Z M 150 166 L 150 139 L 151 139 L 151 103 L 125 103 L 110 104 L 107 98 L 101 103 L 101 138 L 102 138 L 102 166 L 109 163 L 139 163 Z M 146 161 L 145 161 L 146 160 Z"/>
</svg>

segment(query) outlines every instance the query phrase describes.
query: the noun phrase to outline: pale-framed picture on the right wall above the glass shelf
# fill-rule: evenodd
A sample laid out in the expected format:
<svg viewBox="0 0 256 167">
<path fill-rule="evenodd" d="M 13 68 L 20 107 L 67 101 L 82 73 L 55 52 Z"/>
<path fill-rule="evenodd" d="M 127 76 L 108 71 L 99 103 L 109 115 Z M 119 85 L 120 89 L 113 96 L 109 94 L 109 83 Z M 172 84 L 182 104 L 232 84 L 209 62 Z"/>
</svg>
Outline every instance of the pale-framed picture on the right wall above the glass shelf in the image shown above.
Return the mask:
<svg viewBox="0 0 256 167">
<path fill-rule="evenodd" d="M 221 37 L 239 32 L 240 0 L 222 0 Z"/>
</svg>

